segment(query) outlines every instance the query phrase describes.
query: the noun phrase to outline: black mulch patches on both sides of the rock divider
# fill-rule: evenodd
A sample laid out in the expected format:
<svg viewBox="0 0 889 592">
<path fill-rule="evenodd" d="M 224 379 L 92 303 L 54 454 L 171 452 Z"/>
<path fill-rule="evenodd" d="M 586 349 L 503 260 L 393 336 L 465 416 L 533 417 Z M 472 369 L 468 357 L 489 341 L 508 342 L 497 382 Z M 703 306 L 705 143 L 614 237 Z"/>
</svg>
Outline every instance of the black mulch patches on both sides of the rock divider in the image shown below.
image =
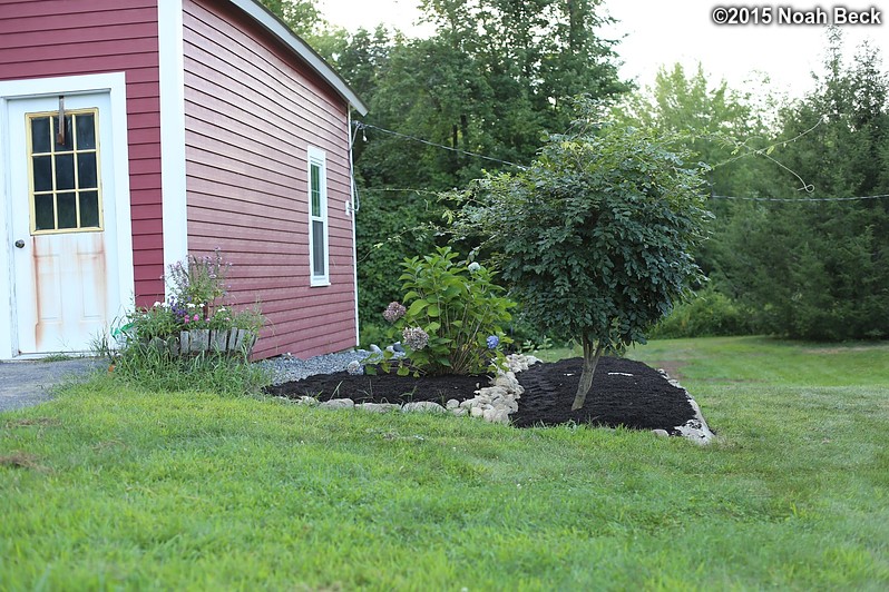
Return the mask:
<svg viewBox="0 0 889 592">
<path fill-rule="evenodd" d="M 535 364 L 518 373 L 525 394 L 519 410 L 510 415 L 512 425 L 531 427 L 566 423 L 625 426 L 637 430 L 666 430 L 694 418 L 685 392 L 641 362 L 603 357 L 596 368 L 593 389 L 583 408 L 573 412 L 572 403 L 580 379 L 580 358 L 553 364 Z M 629 375 L 629 376 L 627 376 Z M 345 372 L 310 376 L 302 381 L 266 388 L 275 396 L 352 398 L 355 403 L 408 403 L 449 398 L 465 401 L 488 386 L 487 376 L 398 376 L 394 373 L 352 376 Z"/>
</svg>

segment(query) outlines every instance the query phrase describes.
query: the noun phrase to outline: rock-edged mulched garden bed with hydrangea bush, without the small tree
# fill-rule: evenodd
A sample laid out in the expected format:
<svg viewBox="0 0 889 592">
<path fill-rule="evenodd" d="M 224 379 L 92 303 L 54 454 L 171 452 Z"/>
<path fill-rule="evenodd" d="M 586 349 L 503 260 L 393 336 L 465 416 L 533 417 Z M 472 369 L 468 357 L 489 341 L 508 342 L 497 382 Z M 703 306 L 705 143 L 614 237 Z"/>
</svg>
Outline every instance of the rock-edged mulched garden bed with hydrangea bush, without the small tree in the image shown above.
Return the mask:
<svg viewBox="0 0 889 592">
<path fill-rule="evenodd" d="M 707 442 L 712 433 L 688 393 L 645 364 L 604 358 L 594 401 L 572 410 L 579 358 L 557 364 L 506 355 L 505 327 L 517 304 L 479 262 L 450 247 L 402 263 L 402 302 L 382 316 L 394 345 L 344 372 L 265 388 L 323 408 L 424 412 L 483 418 L 520 427 L 582 424 L 624 426 Z M 399 341 L 400 339 L 400 341 Z"/>
</svg>

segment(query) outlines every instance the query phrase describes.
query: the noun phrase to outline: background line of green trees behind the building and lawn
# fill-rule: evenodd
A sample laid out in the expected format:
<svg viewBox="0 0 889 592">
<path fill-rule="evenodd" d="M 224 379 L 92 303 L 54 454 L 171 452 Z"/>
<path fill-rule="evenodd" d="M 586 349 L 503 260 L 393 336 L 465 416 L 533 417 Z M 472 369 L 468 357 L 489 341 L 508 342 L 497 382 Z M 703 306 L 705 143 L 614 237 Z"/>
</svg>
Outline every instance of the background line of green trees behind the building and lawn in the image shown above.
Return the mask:
<svg viewBox="0 0 889 592">
<path fill-rule="evenodd" d="M 846 65 L 831 31 L 812 90 L 779 101 L 680 65 L 634 88 L 597 0 L 423 0 L 426 39 L 331 27 L 312 0 L 266 4 L 370 107 L 354 146 L 367 338 L 398 297 L 398 263 L 447 240 L 440 193 L 529 164 L 578 95 L 622 125 L 691 132 L 711 167 L 715 220 L 695 254 L 710 282 L 658 334 L 889 336 L 889 198 L 836 199 L 889 194 L 889 79 L 871 48 Z"/>
</svg>

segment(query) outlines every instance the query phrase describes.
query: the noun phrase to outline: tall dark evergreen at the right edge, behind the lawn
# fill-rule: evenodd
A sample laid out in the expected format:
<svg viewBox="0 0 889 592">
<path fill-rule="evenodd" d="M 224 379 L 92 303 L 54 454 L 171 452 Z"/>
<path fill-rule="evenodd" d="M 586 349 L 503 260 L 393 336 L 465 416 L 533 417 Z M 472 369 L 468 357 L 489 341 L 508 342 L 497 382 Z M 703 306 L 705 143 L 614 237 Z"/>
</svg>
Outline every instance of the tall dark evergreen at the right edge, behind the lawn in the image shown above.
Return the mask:
<svg viewBox="0 0 889 592">
<path fill-rule="evenodd" d="M 725 276 L 772 333 L 809 339 L 889 336 L 889 79 L 867 45 L 842 62 L 831 32 L 817 89 L 781 112 L 793 203 L 748 207 L 725 235 Z"/>
</svg>

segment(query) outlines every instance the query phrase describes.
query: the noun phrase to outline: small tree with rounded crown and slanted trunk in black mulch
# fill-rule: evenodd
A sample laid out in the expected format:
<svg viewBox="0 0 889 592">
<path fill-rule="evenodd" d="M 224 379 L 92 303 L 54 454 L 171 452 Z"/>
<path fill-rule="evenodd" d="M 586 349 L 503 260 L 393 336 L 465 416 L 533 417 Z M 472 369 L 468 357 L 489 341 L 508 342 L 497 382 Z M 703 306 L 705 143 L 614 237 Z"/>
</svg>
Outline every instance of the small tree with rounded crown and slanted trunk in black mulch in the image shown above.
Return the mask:
<svg viewBox="0 0 889 592">
<path fill-rule="evenodd" d="M 645 330 L 702 280 L 691 255 L 704 238 L 702 168 L 645 129 L 593 126 L 551 136 L 530 168 L 470 190 L 458 229 L 480 230 L 531 320 L 578 341 L 584 405 L 603 353 Z"/>
</svg>

